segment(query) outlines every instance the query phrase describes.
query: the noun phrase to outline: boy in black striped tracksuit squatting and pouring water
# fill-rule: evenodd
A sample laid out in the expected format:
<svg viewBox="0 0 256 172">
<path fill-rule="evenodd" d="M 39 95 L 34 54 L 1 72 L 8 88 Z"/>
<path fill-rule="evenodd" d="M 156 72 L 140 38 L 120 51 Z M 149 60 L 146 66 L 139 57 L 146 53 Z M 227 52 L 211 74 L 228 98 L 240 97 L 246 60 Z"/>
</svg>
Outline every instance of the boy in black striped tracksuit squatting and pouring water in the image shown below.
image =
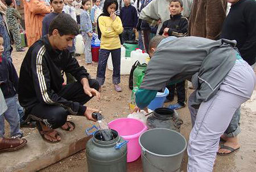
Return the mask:
<svg viewBox="0 0 256 172">
<path fill-rule="evenodd" d="M 20 105 L 26 109 L 27 120 L 36 121 L 42 138 L 51 143 L 61 139 L 52 129 L 75 129 L 74 123 L 67 122 L 68 115 L 94 120 L 92 113 L 98 111 L 84 106 L 93 96 L 100 98 L 98 82 L 90 79 L 67 50 L 79 32 L 69 14 L 57 15 L 50 24 L 49 34 L 28 49 L 20 68 Z M 72 74 L 77 82 L 63 86 L 63 72 Z"/>
</svg>

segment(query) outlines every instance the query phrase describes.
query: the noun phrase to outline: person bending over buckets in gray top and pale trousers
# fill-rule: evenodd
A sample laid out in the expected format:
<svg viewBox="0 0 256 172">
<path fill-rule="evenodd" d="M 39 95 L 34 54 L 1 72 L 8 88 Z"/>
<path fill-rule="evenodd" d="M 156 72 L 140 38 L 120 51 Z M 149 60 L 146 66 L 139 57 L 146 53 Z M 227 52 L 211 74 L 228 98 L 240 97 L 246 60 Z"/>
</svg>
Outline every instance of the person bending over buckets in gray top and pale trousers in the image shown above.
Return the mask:
<svg viewBox="0 0 256 172">
<path fill-rule="evenodd" d="M 192 131 L 188 143 L 188 171 L 212 171 L 220 136 L 234 112 L 249 100 L 256 84 L 253 69 L 243 61 L 236 41 L 201 37 L 154 37 L 151 61 L 141 88 L 135 94 L 137 108 L 146 109 L 158 91 L 170 82 L 191 80 L 196 90 L 188 100 Z"/>
</svg>

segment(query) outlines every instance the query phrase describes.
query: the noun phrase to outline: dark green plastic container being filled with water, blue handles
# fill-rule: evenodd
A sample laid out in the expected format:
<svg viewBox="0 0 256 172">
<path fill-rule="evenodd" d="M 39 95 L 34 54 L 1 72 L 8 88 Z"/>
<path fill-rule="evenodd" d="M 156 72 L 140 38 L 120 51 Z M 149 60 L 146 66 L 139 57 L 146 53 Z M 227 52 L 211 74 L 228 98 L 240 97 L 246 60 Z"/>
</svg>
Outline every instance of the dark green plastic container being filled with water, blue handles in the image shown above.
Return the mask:
<svg viewBox="0 0 256 172">
<path fill-rule="evenodd" d="M 118 132 L 112 130 L 114 140 L 100 140 L 100 131 L 97 131 L 86 144 L 86 161 L 88 172 L 126 172 L 127 144 L 118 149 L 117 144 L 123 143 Z"/>
</svg>

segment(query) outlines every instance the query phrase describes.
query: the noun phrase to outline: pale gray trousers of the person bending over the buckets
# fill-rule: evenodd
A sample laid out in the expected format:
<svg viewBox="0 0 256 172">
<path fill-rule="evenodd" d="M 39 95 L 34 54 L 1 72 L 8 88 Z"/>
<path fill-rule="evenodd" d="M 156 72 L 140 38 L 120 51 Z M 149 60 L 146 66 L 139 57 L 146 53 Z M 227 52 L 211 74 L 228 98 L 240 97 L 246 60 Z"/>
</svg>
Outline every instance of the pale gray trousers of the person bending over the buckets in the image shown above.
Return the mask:
<svg viewBox="0 0 256 172">
<path fill-rule="evenodd" d="M 249 100 L 256 84 L 252 68 L 242 60 L 236 62 L 220 85 L 219 91 L 198 110 L 191 106 L 192 131 L 188 141 L 188 172 L 212 171 L 220 136 L 229 126 L 235 111 Z"/>
</svg>

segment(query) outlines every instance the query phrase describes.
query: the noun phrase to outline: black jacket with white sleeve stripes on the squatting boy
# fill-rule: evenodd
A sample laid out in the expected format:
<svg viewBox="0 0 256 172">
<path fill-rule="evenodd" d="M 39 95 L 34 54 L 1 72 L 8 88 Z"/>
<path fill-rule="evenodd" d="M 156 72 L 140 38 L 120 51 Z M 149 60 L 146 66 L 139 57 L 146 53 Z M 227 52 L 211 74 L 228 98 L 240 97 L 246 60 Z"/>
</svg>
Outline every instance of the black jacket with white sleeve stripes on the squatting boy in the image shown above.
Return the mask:
<svg viewBox="0 0 256 172">
<path fill-rule="evenodd" d="M 84 114 L 85 106 L 58 95 L 64 82 L 63 72 L 72 74 L 78 81 L 89 79 L 88 72 L 68 50 L 53 49 L 47 35 L 36 41 L 28 49 L 20 68 L 20 105 L 25 109 L 36 104 L 59 105 L 73 115 Z"/>
</svg>

